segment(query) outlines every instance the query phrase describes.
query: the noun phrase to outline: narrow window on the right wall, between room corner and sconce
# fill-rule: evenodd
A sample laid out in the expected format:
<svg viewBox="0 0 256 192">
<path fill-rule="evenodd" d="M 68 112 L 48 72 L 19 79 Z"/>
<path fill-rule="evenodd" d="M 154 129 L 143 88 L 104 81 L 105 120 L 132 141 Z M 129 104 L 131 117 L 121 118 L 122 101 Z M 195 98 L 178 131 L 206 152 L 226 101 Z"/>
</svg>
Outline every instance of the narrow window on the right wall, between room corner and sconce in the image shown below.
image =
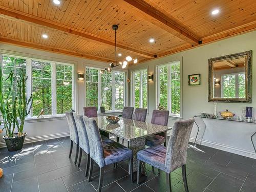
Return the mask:
<svg viewBox="0 0 256 192">
<path fill-rule="evenodd" d="M 147 70 L 133 72 L 133 106 L 147 108 Z"/>
</svg>

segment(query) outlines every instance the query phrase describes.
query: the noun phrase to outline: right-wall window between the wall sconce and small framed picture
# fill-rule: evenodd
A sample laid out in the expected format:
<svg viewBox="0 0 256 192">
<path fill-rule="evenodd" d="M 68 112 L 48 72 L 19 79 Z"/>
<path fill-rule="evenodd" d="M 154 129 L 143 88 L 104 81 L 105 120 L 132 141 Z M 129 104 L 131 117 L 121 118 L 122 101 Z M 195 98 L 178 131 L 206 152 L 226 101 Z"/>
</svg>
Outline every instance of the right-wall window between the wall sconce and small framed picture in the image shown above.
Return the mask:
<svg viewBox="0 0 256 192">
<path fill-rule="evenodd" d="M 157 104 L 172 116 L 181 114 L 180 61 L 157 66 Z"/>
</svg>

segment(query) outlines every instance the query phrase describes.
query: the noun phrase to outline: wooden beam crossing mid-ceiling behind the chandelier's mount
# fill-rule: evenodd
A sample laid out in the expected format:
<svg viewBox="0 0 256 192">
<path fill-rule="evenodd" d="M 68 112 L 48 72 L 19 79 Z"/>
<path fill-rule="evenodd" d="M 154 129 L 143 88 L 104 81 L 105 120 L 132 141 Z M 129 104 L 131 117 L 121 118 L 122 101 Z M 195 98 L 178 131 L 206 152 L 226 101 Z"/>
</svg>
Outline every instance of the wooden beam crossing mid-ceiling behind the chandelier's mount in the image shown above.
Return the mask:
<svg viewBox="0 0 256 192">
<path fill-rule="evenodd" d="M 83 38 L 83 39 L 86 39 L 89 41 L 101 42 L 106 45 L 115 46 L 115 42 L 113 42 L 109 39 L 105 39 L 100 36 L 93 35 L 91 33 L 87 33 L 87 32 L 81 31 L 81 30 L 77 30 L 75 28 L 71 28 L 71 27 L 68 27 L 65 25 L 61 25 L 61 24 L 52 22 L 51 20 L 47 20 L 44 18 L 40 18 L 40 17 L 36 17 L 36 16 L 32 16 L 32 15 L 23 13 L 23 12 L 19 12 L 19 11 L 13 10 L 13 9 L 9 9 L 4 6 L 0 6 L 0 14 L 14 17 L 14 18 L 20 19 L 20 20 L 25 20 L 26 22 L 29 22 L 29 23 L 33 23 L 33 24 L 40 25 L 40 26 L 45 26 L 45 27 L 48 27 L 51 29 L 55 29 L 58 31 L 68 33 L 68 34 L 76 35 L 80 38 Z M 117 47 L 121 48 L 121 49 L 125 49 L 130 52 L 133 52 L 137 55 L 140 55 L 140 56 L 143 56 L 146 58 L 155 58 L 156 57 L 155 54 L 153 54 L 153 53 L 150 53 L 150 52 L 147 52 L 144 50 L 140 50 L 137 48 L 133 48 L 131 46 L 127 46 L 127 45 L 124 45 L 124 44 L 121 44 L 118 42 L 117 42 Z"/>
</svg>

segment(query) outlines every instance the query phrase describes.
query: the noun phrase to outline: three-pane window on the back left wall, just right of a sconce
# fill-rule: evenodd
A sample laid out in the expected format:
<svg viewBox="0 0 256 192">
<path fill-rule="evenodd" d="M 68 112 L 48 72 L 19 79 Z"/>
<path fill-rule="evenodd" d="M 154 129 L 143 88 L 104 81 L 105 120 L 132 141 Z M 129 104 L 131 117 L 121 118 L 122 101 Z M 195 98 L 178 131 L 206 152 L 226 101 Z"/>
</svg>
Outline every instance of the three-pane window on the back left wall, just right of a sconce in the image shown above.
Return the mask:
<svg viewBox="0 0 256 192">
<path fill-rule="evenodd" d="M 86 68 L 86 106 L 104 106 L 105 111 L 122 110 L 124 107 L 125 73 Z"/>
</svg>

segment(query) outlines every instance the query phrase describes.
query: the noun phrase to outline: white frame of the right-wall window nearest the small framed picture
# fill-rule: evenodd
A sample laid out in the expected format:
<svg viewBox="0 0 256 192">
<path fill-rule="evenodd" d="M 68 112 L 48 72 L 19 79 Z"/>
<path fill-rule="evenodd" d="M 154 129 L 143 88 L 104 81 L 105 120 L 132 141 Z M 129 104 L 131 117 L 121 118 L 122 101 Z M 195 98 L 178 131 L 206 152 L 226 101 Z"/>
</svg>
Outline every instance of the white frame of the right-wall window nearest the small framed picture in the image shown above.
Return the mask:
<svg viewBox="0 0 256 192">
<path fill-rule="evenodd" d="M 172 65 L 177 64 L 177 62 L 180 63 L 180 114 L 173 114 L 173 113 L 169 113 L 169 117 L 173 117 L 173 118 L 178 118 L 178 119 L 182 119 L 182 62 L 181 60 L 175 60 L 175 61 L 171 61 L 171 62 L 167 62 L 167 63 L 163 63 L 160 65 L 156 66 L 156 109 L 158 109 L 158 103 L 160 102 L 160 86 L 159 86 L 159 68 L 160 67 L 165 67 L 167 66 L 167 110 L 171 112 L 171 107 L 172 107 L 172 89 L 170 88 L 170 84 L 171 84 L 171 75 L 172 75 Z"/>
</svg>

